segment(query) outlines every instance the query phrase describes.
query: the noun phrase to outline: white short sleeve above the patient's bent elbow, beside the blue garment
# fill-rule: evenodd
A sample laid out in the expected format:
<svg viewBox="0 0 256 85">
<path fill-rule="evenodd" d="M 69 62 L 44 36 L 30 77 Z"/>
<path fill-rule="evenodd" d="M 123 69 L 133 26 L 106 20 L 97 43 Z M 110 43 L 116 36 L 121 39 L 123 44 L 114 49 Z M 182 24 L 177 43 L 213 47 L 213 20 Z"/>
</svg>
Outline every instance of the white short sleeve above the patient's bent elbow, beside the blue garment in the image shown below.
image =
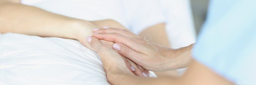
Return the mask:
<svg viewBox="0 0 256 85">
<path fill-rule="evenodd" d="M 166 33 L 172 48 L 189 46 L 196 41 L 190 0 L 160 0 L 166 16 Z"/>
</svg>

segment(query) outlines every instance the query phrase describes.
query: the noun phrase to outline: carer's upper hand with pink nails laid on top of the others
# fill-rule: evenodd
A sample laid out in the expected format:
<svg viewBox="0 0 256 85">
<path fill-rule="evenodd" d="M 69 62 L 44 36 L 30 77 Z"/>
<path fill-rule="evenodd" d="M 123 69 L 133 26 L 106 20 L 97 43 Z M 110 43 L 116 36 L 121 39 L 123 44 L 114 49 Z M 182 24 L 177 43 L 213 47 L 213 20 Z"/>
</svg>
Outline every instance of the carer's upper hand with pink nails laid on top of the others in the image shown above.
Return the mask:
<svg viewBox="0 0 256 85">
<path fill-rule="evenodd" d="M 184 68 L 191 59 L 187 56 L 189 52 L 184 51 L 183 48 L 170 49 L 154 42 L 148 42 L 128 30 L 109 28 L 93 32 L 93 36 L 98 39 L 116 42 L 113 48 L 118 53 L 151 71 Z"/>
</svg>

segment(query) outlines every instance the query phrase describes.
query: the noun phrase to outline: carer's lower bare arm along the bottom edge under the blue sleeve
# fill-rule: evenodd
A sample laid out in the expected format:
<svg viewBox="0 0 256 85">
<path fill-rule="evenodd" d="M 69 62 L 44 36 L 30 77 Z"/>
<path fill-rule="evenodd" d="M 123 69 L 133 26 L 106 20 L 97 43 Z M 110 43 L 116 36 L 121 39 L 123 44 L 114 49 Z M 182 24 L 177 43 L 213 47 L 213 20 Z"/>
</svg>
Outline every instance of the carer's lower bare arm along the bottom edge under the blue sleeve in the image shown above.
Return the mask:
<svg viewBox="0 0 256 85">
<path fill-rule="evenodd" d="M 196 61 L 190 64 L 181 78 L 142 78 L 124 74 L 117 74 L 113 78 L 117 79 L 113 81 L 116 82 L 114 85 L 233 85 L 232 82 Z"/>
</svg>

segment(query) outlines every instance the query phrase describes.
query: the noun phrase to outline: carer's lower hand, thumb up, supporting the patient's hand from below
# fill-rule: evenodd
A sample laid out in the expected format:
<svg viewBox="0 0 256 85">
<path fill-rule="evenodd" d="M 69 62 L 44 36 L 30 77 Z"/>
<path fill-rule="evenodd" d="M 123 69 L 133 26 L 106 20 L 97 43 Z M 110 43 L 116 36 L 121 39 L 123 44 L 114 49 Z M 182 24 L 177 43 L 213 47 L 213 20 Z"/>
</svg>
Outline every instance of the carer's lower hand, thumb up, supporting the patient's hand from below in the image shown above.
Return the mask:
<svg viewBox="0 0 256 85">
<path fill-rule="evenodd" d="M 110 83 L 116 82 L 115 79 L 118 77 L 115 76 L 116 74 L 135 75 L 126 67 L 124 57 L 114 50 L 108 50 L 112 47 L 106 44 L 106 41 L 102 42 L 95 37 L 88 37 L 87 41 L 88 44 L 92 48 L 96 49 L 95 51 L 99 54 L 102 66 Z"/>
</svg>

